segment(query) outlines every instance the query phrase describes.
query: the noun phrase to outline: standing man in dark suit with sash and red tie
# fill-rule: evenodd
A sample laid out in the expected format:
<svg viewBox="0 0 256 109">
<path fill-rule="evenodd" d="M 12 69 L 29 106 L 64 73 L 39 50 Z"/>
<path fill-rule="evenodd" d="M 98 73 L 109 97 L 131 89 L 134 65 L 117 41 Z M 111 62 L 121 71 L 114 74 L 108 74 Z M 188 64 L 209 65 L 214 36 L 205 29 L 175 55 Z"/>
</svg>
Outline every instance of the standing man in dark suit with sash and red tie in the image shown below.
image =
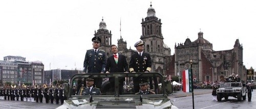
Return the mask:
<svg viewBox="0 0 256 109">
<path fill-rule="evenodd" d="M 106 60 L 106 73 L 128 73 L 128 64 L 126 62 L 126 57 L 124 55 L 121 55 L 118 53 L 118 49 L 116 45 L 111 46 L 111 52 L 113 55 L 111 55 Z M 115 79 L 110 78 L 110 86 L 111 88 L 115 88 Z M 119 78 L 119 94 L 123 91 L 123 81 L 124 78 Z M 111 89 L 108 88 L 108 89 Z"/>
</svg>

